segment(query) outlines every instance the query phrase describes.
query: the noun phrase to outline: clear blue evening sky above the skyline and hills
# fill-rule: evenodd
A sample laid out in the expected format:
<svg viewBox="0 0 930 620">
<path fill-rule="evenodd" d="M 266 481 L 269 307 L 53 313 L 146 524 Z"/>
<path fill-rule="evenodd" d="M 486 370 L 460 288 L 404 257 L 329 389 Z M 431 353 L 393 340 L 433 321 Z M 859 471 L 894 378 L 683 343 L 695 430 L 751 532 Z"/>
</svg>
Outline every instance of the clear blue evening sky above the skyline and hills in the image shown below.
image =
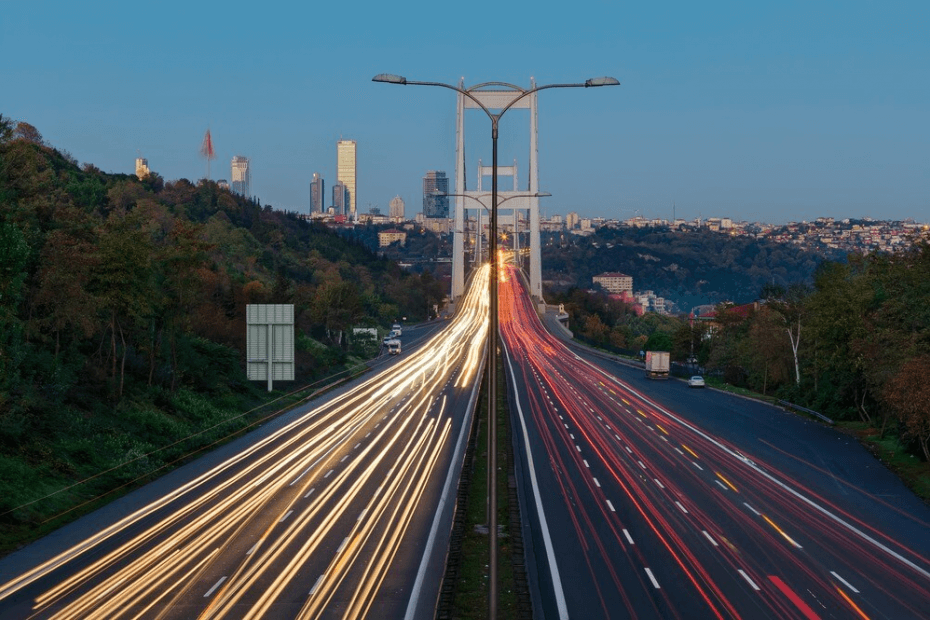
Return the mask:
<svg viewBox="0 0 930 620">
<path fill-rule="evenodd" d="M 299 212 L 314 172 L 331 196 L 336 142 L 356 140 L 359 212 L 399 195 L 413 217 L 427 170 L 454 178 L 455 93 L 372 77 L 612 76 L 539 94 L 544 215 L 928 222 L 928 32 L 925 0 L 0 0 L 0 114 L 81 163 L 131 173 L 141 156 L 169 181 L 206 176 L 209 128 L 211 178 L 243 155 L 262 204 Z M 465 139 L 474 189 L 481 111 Z M 499 163 L 514 160 L 525 189 L 525 110 L 500 121 Z"/>
</svg>

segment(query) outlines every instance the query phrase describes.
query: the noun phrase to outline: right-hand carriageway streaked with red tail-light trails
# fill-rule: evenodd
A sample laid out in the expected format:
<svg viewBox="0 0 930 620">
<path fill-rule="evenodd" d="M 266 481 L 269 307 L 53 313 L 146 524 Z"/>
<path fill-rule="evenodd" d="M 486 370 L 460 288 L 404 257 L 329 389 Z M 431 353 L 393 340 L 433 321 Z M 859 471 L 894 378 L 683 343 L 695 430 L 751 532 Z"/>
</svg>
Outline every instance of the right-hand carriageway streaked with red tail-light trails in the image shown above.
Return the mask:
<svg viewBox="0 0 930 620">
<path fill-rule="evenodd" d="M 508 273 L 501 331 L 547 617 L 927 616 L 923 545 L 582 359 Z"/>
</svg>

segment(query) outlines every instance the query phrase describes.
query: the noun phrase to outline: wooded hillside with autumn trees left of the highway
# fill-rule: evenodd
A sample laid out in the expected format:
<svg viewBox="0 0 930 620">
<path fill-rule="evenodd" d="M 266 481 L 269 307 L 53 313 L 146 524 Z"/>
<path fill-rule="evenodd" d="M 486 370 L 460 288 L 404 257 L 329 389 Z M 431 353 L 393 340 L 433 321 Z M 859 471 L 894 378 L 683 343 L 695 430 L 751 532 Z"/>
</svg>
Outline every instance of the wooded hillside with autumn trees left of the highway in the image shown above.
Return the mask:
<svg viewBox="0 0 930 620">
<path fill-rule="evenodd" d="M 256 402 L 246 304 L 294 304 L 301 385 L 364 353 L 351 327 L 423 319 L 444 292 L 216 183 L 79 166 L 0 116 L 0 522 L 94 497 L 10 512 Z"/>
</svg>

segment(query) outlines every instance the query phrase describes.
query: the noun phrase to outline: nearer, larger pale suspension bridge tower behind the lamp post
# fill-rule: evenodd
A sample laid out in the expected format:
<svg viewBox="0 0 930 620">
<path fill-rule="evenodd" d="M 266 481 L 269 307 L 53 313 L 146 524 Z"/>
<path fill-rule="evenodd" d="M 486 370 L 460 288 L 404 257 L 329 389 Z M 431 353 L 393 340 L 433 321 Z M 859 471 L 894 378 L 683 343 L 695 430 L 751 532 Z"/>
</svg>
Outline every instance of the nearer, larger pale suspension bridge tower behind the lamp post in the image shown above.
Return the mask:
<svg viewBox="0 0 930 620">
<path fill-rule="evenodd" d="M 535 88 L 536 82 L 530 78 L 530 89 Z M 459 81 L 459 88 L 467 90 L 475 99 L 489 110 L 501 110 L 510 102 L 519 97 L 523 91 L 512 84 L 501 82 L 489 82 L 479 84 L 471 88 L 465 88 L 465 80 Z M 512 176 L 514 178 L 514 191 L 498 190 L 498 204 L 501 205 L 505 200 L 506 203 L 500 207 L 501 210 L 513 210 L 514 213 L 514 231 L 517 229 L 519 213 L 529 211 L 530 214 L 530 294 L 537 300 L 542 299 L 542 251 L 539 239 L 539 197 L 532 196 L 539 193 L 539 152 L 537 148 L 537 115 L 536 100 L 538 93 L 533 93 L 517 101 L 513 108 L 522 108 L 529 110 L 530 113 L 530 161 L 528 172 L 527 191 L 524 194 L 531 196 L 520 196 L 516 191 L 517 170 L 516 162 L 511 166 L 498 166 L 498 177 Z M 452 234 L 452 298 L 458 299 L 465 293 L 465 209 L 482 209 L 479 203 L 469 200 L 471 204 L 466 204 L 464 196 L 472 196 L 477 200 L 483 201 L 490 209 L 490 194 L 480 190 L 480 180 L 478 190 L 469 191 L 465 186 L 465 110 L 469 108 L 478 108 L 478 104 L 465 95 L 458 93 L 456 108 L 456 138 L 455 138 L 455 227 Z M 479 179 L 484 174 L 491 174 L 491 167 L 478 166 Z M 482 209 L 483 210 L 483 209 Z M 480 217 L 480 216 L 479 216 Z"/>
</svg>

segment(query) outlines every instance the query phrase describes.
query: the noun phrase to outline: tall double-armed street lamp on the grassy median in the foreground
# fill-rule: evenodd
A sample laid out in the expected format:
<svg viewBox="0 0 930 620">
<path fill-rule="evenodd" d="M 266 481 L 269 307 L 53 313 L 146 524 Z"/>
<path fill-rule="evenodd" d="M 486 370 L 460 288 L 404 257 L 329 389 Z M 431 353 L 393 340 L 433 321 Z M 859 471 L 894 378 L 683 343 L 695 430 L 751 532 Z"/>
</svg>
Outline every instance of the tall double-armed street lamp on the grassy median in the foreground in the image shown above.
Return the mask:
<svg viewBox="0 0 930 620">
<path fill-rule="evenodd" d="M 460 88 L 452 84 L 443 82 L 418 82 L 408 80 L 407 78 L 394 75 L 391 73 L 380 73 L 372 78 L 372 82 L 384 82 L 386 84 L 400 84 L 402 86 L 439 86 L 448 88 L 455 92 L 468 97 L 475 105 L 484 110 L 484 113 L 491 119 L 491 234 L 488 243 L 488 254 L 491 260 L 491 278 L 488 285 L 489 305 L 490 305 L 490 325 L 488 326 L 488 391 L 491 399 L 491 407 L 488 409 L 488 442 L 493 449 L 488 452 L 488 471 L 494 476 L 497 472 L 497 338 L 498 338 L 498 317 L 497 317 L 497 285 L 500 275 L 498 273 L 497 261 L 497 127 L 501 117 L 514 106 L 518 101 L 537 93 L 541 90 L 550 88 L 592 88 L 596 86 L 619 86 L 620 82 L 612 77 L 596 77 L 578 84 L 545 84 L 543 86 L 533 86 L 530 89 L 524 89 L 513 84 L 505 82 L 485 82 L 469 88 Z M 474 93 L 486 86 L 504 86 L 511 89 L 516 96 L 500 109 L 496 114 L 491 112 Z M 490 557 L 488 558 L 488 617 L 497 617 L 497 486 L 491 484 L 488 488 L 488 538 L 490 539 Z"/>
</svg>

